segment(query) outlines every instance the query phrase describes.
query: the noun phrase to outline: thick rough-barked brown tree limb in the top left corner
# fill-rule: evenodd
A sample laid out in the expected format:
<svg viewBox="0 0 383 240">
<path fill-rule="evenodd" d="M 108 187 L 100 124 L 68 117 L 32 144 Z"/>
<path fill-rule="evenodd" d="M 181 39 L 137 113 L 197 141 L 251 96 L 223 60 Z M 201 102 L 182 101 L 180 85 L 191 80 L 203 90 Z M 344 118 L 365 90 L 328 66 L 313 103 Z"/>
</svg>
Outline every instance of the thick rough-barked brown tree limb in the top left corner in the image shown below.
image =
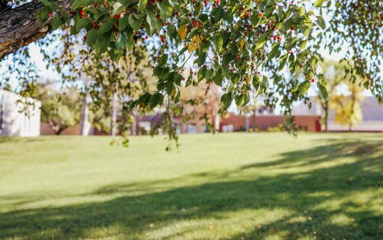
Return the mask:
<svg viewBox="0 0 383 240">
<path fill-rule="evenodd" d="M 68 0 L 56 0 L 58 5 L 68 8 Z M 41 23 L 38 13 L 44 5 L 33 0 L 17 8 L 3 9 L 0 13 L 0 59 L 19 48 L 29 45 L 51 30 L 50 20 Z"/>
</svg>

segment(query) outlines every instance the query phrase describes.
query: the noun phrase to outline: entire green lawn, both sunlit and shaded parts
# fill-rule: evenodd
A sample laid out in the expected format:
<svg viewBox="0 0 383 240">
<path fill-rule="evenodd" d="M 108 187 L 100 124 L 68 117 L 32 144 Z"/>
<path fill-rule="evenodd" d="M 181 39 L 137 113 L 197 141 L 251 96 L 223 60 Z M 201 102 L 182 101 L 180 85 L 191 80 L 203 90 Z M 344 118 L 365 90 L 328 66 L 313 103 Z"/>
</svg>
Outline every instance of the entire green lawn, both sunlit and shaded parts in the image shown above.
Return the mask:
<svg viewBox="0 0 383 240">
<path fill-rule="evenodd" d="M 383 134 L 0 138 L 0 239 L 383 239 Z"/>
</svg>

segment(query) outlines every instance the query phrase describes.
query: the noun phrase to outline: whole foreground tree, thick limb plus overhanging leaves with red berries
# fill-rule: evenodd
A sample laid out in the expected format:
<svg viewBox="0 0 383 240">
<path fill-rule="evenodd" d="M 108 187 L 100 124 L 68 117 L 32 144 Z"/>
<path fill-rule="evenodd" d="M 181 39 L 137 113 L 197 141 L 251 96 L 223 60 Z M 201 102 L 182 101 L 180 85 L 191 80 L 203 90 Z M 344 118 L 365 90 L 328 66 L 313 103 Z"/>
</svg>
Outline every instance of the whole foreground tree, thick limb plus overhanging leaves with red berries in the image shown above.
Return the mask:
<svg viewBox="0 0 383 240">
<path fill-rule="evenodd" d="M 182 73 L 189 70 L 185 63 L 192 57 L 196 58 L 193 70 L 198 82 L 214 82 L 224 90 L 221 97 L 223 108 L 227 108 L 233 100 L 239 107 L 247 105 L 251 84 L 257 94 L 265 93 L 265 103 L 281 103 L 285 114 L 291 113 L 292 102 L 306 97 L 310 80 L 318 78 L 313 85 L 318 87 L 322 96 L 327 96 L 325 79 L 318 69 L 320 57 L 315 54 L 321 42 L 318 38 L 325 38 L 325 33 L 311 31 L 326 28 L 326 24 L 321 15 L 314 15 L 311 4 L 278 0 L 258 0 L 255 4 L 251 0 L 203 3 L 192 0 L 41 1 L 44 6 L 35 0 L 15 8 L 2 8 L 5 14 L 1 14 L 0 31 L 5 37 L 0 34 L 0 58 L 42 37 L 51 28 L 54 30 L 62 25 L 70 27 L 72 35 L 84 36 L 91 50 L 100 56 L 108 54 L 116 62 L 126 54 L 126 50 L 132 50 L 137 40 L 142 39 L 146 45 L 158 48 L 151 56 L 156 62 L 154 75 L 158 78 L 157 90 L 143 93 L 138 99 L 124 100 L 129 105 L 125 108 L 128 112 L 133 107 L 154 108 L 162 103 L 177 103 Z M 321 7 L 325 2 L 317 0 L 313 7 Z M 379 5 L 377 0 L 373 2 L 372 5 Z M 338 8 L 334 11 L 334 18 L 353 14 L 352 0 L 336 4 Z M 360 29 L 352 31 L 354 35 L 361 36 L 367 31 L 376 36 L 379 8 L 369 6 L 368 2 L 360 5 L 364 7 L 355 7 L 358 10 L 368 7 L 372 21 L 367 21 L 367 26 L 371 29 L 364 29 L 366 26 L 360 24 L 366 16 L 358 12 L 357 17 L 354 19 L 352 15 L 350 21 L 356 24 L 334 21 L 331 24 L 335 25 L 331 25 L 333 28 L 330 30 L 334 30 L 334 26 L 357 26 Z M 334 6 L 327 5 L 323 9 L 329 11 Z M 36 25 L 36 13 L 42 24 Z M 13 19 L 17 21 L 9 20 L 11 15 L 15 15 Z M 28 23 L 22 21 L 22 15 Z M 24 33 L 19 30 L 29 23 L 34 24 L 30 27 L 31 31 Z M 329 32 L 335 34 L 330 37 L 346 38 L 345 34 L 336 35 L 338 31 Z M 13 40 L 9 36 L 13 36 Z M 351 43 L 361 46 L 359 48 L 368 44 L 366 38 L 355 37 L 355 40 Z M 378 44 L 373 44 L 370 49 L 376 51 L 367 52 L 368 56 L 380 56 Z M 373 59 L 374 64 L 377 59 Z M 367 69 L 366 56 L 362 58 L 359 52 L 354 62 L 358 71 Z M 286 80 L 279 73 L 279 70 L 286 68 L 291 74 L 302 70 L 304 81 Z M 381 97 L 382 81 L 369 77 L 366 70 L 363 73 L 364 86 Z"/>
</svg>

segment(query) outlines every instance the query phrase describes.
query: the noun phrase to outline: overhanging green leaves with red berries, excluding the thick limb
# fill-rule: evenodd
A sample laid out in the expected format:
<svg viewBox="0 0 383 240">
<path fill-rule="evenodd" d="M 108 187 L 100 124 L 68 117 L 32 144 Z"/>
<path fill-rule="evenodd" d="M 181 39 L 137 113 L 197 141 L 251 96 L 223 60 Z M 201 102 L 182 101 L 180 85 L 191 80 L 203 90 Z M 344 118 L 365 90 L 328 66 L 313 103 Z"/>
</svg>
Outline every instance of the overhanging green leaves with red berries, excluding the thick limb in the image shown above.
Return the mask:
<svg viewBox="0 0 383 240">
<path fill-rule="evenodd" d="M 130 107 L 153 108 L 164 99 L 177 103 L 182 82 L 188 85 L 194 74 L 198 82 L 214 82 L 224 89 L 224 107 L 233 100 L 242 107 L 249 103 L 252 87 L 257 94 L 267 92 L 270 80 L 262 69 L 271 62 L 278 70 L 304 73 L 306 80 L 289 89 L 295 99 L 304 96 L 312 79 L 316 79 L 313 82 L 321 96 L 327 96 L 325 79 L 318 69 L 320 59 L 305 48 L 311 29 L 325 28 L 325 21 L 314 15 L 310 4 L 281 0 L 76 0 L 68 11 L 52 1 L 40 1 L 45 4 L 42 21 L 52 21 L 53 29 L 65 24 L 72 34 L 86 34 L 84 40 L 92 50 L 107 52 L 114 61 L 132 50 L 137 38 L 158 45 L 153 70 L 157 91 L 132 100 Z M 314 6 L 323 2 L 316 1 Z M 194 59 L 197 70 L 186 69 L 189 59 Z M 188 79 L 186 72 L 190 73 Z"/>
</svg>

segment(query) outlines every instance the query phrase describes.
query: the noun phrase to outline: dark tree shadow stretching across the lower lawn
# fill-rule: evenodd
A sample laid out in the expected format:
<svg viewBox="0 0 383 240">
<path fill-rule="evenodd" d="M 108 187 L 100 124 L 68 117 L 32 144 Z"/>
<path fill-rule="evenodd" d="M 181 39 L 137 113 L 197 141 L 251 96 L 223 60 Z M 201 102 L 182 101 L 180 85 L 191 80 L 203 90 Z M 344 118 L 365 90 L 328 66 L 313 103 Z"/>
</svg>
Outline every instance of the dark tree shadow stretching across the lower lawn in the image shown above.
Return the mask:
<svg viewBox="0 0 383 240">
<path fill-rule="evenodd" d="M 342 162 L 344 158 L 354 160 Z M 307 165 L 316 167 L 302 168 Z M 257 174 L 269 168 L 295 170 L 297 167 L 302 170 L 276 173 L 274 177 Z M 233 174 L 241 178 L 230 177 Z M 209 182 L 161 189 L 163 184 L 173 182 L 176 186 L 183 179 L 198 177 Z M 221 239 L 265 239 L 273 234 L 282 234 L 283 239 L 383 239 L 382 209 L 376 209 L 382 203 L 382 187 L 382 142 L 331 140 L 305 151 L 284 153 L 274 162 L 247 165 L 230 172 L 120 183 L 91 193 L 121 196 L 106 202 L 0 213 L 0 237 L 77 239 L 95 237 L 89 235 L 93 230 L 118 226 L 115 233 L 109 234 L 123 234 L 125 239 L 152 239 L 148 235 L 151 232 L 182 221 L 219 222 L 242 210 L 285 209 L 288 214 L 271 222 L 261 221 L 246 230 L 223 234 Z M 131 195 L 136 190 L 142 193 Z M 354 200 L 357 194 L 364 194 L 363 200 Z M 338 224 L 339 217 L 350 222 Z M 187 239 L 182 234 L 200 230 L 205 227 L 203 224 L 181 227 L 169 234 L 160 232 L 159 237 Z"/>
</svg>

